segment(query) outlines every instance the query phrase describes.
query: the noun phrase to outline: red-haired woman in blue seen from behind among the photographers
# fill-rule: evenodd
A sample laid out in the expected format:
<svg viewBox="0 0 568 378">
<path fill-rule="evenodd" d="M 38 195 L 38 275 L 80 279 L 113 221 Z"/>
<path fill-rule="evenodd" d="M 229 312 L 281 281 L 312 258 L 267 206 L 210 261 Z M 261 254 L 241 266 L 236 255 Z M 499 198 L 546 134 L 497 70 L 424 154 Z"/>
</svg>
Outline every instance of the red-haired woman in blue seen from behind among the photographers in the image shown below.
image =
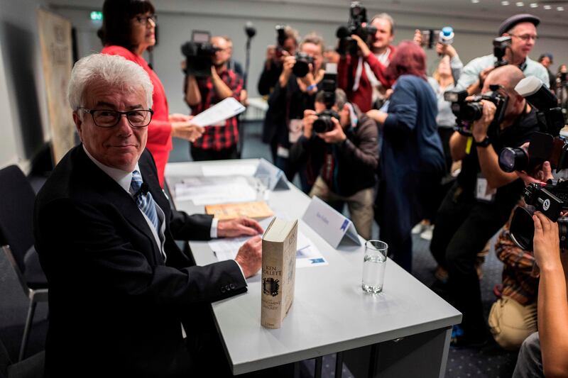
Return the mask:
<svg viewBox="0 0 568 378">
<path fill-rule="evenodd" d="M 382 136 L 375 214 L 381 240 L 388 244 L 393 260 L 410 272 L 410 230 L 431 212 L 427 206 L 444 174 L 444 152 L 424 50 L 411 41 L 401 42 L 386 74 L 395 82 L 388 111 L 367 113 Z"/>
</svg>

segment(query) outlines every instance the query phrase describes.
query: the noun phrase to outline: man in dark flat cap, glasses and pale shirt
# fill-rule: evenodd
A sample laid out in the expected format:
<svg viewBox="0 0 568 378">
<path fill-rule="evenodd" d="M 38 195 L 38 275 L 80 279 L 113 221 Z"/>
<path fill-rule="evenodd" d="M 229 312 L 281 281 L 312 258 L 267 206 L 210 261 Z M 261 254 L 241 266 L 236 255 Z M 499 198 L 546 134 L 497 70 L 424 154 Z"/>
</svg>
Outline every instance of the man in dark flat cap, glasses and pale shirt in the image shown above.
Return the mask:
<svg viewBox="0 0 568 378">
<path fill-rule="evenodd" d="M 510 65 L 519 67 L 525 77 L 538 77 L 545 83 L 546 87 L 549 87 L 548 73 L 545 67 L 528 57 L 532 48 L 535 47 L 539 23 L 540 18 L 537 16 L 528 13 L 515 14 L 515 16 L 510 16 L 501 23 L 498 35 L 510 35 L 511 37 L 510 47 L 507 48 L 503 59 Z M 493 54 L 471 60 L 464 67 L 464 72 L 459 77 L 456 89 L 460 91 L 467 89 L 469 94 L 479 93 L 479 90 L 483 87 L 484 79 L 493 70 L 495 62 L 496 57 Z"/>
</svg>

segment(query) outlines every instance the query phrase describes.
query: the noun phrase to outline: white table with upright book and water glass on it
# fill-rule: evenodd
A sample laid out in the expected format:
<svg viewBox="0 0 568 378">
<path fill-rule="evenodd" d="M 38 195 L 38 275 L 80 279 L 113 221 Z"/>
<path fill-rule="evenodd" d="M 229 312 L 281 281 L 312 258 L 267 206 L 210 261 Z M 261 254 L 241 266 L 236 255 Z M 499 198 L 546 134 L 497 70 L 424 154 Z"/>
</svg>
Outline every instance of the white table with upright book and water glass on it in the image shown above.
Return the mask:
<svg viewBox="0 0 568 378">
<path fill-rule="evenodd" d="M 257 164 L 258 160 L 168 164 L 170 188 L 183 177 L 202 175 L 202 166 Z M 268 204 L 283 218 L 302 217 L 310 199 L 290 184 L 272 191 Z M 192 201 L 175 201 L 188 213 L 203 211 Z M 233 374 L 252 372 L 335 352 L 356 377 L 443 377 L 452 326 L 461 313 L 412 275 L 388 260 L 384 291 L 361 290 L 364 247 L 332 248 L 299 223 L 329 265 L 298 268 L 295 299 L 282 328 L 261 326 L 260 274 L 245 294 L 212 304 Z M 361 239 L 362 240 L 362 239 Z M 190 242 L 197 265 L 217 261 L 207 242 Z"/>
</svg>

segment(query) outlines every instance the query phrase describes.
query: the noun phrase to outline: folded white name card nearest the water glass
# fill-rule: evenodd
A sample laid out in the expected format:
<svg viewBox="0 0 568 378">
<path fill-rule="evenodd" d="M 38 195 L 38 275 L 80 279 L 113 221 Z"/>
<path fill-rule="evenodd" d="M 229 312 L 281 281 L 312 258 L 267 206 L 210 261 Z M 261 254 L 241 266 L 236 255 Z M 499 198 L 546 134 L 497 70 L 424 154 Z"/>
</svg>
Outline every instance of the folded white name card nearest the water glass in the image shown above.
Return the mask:
<svg viewBox="0 0 568 378">
<path fill-rule="evenodd" d="M 346 238 L 356 245 L 361 245 L 353 222 L 317 197 L 312 198 L 302 216 L 302 221 L 305 221 L 307 226 L 315 230 L 333 248 L 337 248 Z"/>
</svg>

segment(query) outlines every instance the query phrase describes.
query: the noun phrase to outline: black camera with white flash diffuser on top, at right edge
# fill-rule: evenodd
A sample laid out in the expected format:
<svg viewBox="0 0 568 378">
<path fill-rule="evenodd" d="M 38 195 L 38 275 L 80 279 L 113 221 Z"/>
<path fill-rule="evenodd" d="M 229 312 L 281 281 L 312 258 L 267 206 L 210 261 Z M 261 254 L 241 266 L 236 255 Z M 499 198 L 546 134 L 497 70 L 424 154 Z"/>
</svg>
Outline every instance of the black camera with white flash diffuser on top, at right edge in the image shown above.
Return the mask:
<svg viewBox="0 0 568 378">
<path fill-rule="evenodd" d="M 505 172 L 531 172 L 549 161 L 556 172 L 568 168 L 568 142 L 559 136 L 564 127 L 562 109 L 556 96 L 537 77 L 525 77 L 515 87 L 537 109 L 540 132 L 530 136 L 529 147 L 504 148 L 499 152 L 499 166 Z"/>
</svg>

